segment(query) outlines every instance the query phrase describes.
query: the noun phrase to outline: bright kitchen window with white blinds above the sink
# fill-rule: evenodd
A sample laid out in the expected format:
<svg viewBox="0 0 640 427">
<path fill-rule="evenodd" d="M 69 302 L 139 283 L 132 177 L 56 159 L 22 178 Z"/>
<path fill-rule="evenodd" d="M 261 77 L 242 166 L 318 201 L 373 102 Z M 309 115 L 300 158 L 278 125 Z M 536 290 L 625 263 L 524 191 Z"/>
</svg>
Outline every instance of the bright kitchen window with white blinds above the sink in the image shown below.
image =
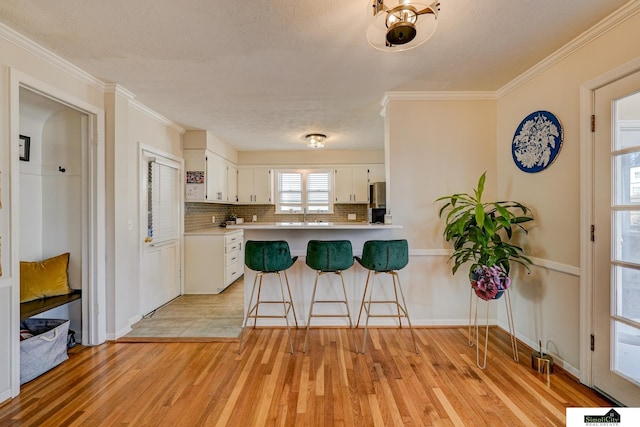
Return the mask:
<svg viewBox="0 0 640 427">
<path fill-rule="evenodd" d="M 332 177 L 329 169 L 276 171 L 276 212 L 332 213 Z"/>
</svg>

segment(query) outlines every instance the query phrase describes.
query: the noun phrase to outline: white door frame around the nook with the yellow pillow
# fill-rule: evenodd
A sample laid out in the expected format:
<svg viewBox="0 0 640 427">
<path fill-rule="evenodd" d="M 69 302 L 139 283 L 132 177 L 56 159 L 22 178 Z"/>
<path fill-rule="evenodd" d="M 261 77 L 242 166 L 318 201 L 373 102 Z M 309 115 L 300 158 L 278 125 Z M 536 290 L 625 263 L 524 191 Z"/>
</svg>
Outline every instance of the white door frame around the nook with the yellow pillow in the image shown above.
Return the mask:
<svg viewBox="0 0 640 427">
<path fill-rule="evenodd" d="M 41 82 L 14 68 L 9 69 L 9 132 L 11 139 L 11 324 L 13 331 L 20 324 L 20 252 L 15 233 L 20 229 L 20 179 L 18 140 L 20 134 L 20 88 L 52 99 L 88 117 L 83 147 L 83 252 L 82 260 L 82 338 L 83 344 L 98 345 L 106 340 L 106 218 L 105 218 L 105 115 L 104 110 Z M 86 279 L 86 280 L 84 280 Z M 11 342 L 11 394 L 20 392 L 20 342 L 18 335 Z"/>
</svg>

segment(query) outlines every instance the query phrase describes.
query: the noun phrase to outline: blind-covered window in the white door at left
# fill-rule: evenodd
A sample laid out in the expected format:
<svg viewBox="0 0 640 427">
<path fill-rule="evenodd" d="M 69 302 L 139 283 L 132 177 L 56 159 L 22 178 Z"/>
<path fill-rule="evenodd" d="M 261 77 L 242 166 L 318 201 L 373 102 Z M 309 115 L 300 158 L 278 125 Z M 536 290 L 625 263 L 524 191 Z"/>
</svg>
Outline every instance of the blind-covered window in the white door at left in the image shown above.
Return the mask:
<svg viewBox="0 0 640 427">
<path fill-rule="evenodd" d="M 147 175 L 147 237 L 154 244 L 180 237 L 180 173 L 150 158 Z"/>
</svg>

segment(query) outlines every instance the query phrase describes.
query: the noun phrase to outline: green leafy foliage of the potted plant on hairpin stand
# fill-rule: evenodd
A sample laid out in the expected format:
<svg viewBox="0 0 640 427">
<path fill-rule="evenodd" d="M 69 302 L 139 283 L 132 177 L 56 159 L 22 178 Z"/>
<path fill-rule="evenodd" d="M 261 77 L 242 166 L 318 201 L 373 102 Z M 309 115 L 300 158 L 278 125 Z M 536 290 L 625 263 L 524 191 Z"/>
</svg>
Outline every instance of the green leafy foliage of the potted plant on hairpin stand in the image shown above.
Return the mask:
<svg viewBox="0 0 640 427">
<path fill-rule="evenodd" d="M 533 221 L 529 208 L 514 201 L 483 202 L 482 193 L 486 172 L 478 180 L 473 194 L 453 194 L 439 197 L 436 202 L 445 202 L 439 216 L 446 213 L 443 232 L 446 241 L 453 242 L 452 273 L 462 264 L 471 262 L 469 276 L 478 267 L 499 266 L 508 275 L 510 261 L 523 265 L 529 271 L 531 260 L 521 247 L 509 243 L 516 229 L 525 234 L 522 224 Z"/>
</svg>

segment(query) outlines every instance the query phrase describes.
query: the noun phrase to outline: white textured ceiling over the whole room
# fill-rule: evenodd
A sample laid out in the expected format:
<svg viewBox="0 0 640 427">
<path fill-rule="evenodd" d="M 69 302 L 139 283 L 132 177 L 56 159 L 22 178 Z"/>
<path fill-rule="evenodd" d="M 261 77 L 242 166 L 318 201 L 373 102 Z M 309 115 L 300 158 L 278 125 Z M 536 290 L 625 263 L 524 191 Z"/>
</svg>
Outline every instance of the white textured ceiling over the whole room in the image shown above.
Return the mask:
<svg viewBox="0 0 640 427">
<path fill-rule="evenodd" d="M 637 1 L 637 0 L 635 0 Z M 240 151 L 382 149 L 388 91 L 495 91 L 628 0 L 442 0 L 406 52 L 370 47 L 370 0 L 2 0 L 0 22 Z"/>
</svg>

